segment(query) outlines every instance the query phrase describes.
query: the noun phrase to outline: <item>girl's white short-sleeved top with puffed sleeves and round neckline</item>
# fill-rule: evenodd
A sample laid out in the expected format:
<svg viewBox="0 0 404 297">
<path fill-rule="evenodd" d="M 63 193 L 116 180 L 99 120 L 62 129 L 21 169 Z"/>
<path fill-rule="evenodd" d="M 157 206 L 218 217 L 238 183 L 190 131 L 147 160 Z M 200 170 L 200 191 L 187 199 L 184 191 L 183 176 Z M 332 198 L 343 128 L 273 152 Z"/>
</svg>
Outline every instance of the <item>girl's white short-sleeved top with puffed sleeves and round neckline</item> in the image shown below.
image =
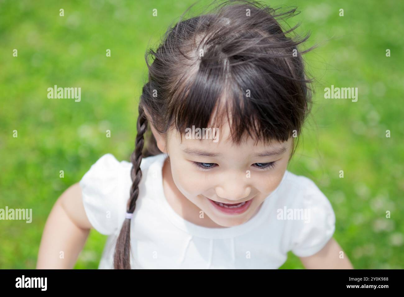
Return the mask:
<svg viewBox="0 0 404 297">
<path fill-rule="evenodd" d="M 151 156 L 141 163 L 143 178 L 130 222 L 133 269 L 277 269 L 288 251 L 299 257 L 314 255 L 334 234 L 335 214 L 326 196 L 311 179 L 290 171 L 242 225 L 209 228 L 186 221 L 164 196 L 166 157 Z M 108 235 L 99 269 L 113 269 L 132 185 L 131 166 L 105 154 L 80 180 L 88 220 Z"/>
</svg>

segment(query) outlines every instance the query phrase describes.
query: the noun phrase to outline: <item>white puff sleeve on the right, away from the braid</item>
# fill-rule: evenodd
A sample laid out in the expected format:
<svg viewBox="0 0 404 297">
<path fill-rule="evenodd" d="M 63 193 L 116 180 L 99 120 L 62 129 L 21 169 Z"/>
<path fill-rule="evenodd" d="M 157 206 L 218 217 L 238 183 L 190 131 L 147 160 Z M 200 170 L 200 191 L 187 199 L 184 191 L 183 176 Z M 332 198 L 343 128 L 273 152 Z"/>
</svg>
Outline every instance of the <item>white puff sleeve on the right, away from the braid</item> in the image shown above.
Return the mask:
<svg viewBox="0 0 404 297">
<path fill-rule="evenodd" d="M 335 232 L 335 213 L 331 203 L 317 185 L 305 181 L 303 198 L 297 208 L 308 212 L 308 219 L 294 221 L 291 251 L 298 257 L 308 257 L 320 251 Z"/>
</svg>

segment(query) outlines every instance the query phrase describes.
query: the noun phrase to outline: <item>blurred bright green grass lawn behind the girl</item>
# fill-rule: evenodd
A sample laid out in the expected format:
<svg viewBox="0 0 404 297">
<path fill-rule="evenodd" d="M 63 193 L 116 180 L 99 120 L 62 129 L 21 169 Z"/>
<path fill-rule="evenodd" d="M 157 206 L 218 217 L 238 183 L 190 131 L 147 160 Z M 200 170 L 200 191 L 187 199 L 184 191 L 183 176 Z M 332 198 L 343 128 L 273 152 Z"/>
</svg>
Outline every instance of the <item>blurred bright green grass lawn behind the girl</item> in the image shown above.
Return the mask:
<svg viewBox="0 0 404 297">
<path fill-rule="evenodd" d="M 301 21 L 297 32 L 311 32 L 306 46 L 320 45 L 305 56 L 316 78 L 314 109 L 288 169 L 329 198 L 335 238 L 355 268 L 404 268 L 404 2 L 264 2 L 298 6 L 289 24 Z M 105 153 L 129 159 L 147 43 L 156 44 L 192 3 L 0 0 L 0 208 L 32 208 L 34 217 L 31 224 L 0 221 L 0 268 L 35 268 L 61 193 Z M 55 84 L 80 86 L 81 102 L 48 99 Z M 358 102 L 324 99 L 331 84 L 358 87 Z M 75 268 L 97 268 L 105 240 L 93 230 Z M 290 253 L 282 268 L 303 266 Z"/>
</svg>

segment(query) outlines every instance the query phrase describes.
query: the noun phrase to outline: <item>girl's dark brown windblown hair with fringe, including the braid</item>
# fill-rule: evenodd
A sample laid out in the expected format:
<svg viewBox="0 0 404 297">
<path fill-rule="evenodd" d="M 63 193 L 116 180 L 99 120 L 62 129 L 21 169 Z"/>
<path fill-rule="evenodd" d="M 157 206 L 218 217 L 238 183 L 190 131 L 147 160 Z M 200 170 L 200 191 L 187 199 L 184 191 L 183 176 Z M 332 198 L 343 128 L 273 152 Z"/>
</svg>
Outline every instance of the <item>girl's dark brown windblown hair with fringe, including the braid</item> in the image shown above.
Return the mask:
<svg viewBox="0 0 404 297">
<path fill-rule="evenodd" d="M 157 50 L 146 52 L 149 79 L 140 97 L 136 148 L 130 158 L 128 213 L 135 211 L 139 196 L 142 157 L 161 153 L 148 121 L 162 135 L 171 127 L 182 134 L 192 125 L 215 126 L 215 119 L 231 116 L 235 143 L 246 135 L 282 142 L 293 131 L 300 134 L 311 109 L 310 80 L 301 58 L 311 48 L 297 48 L 309 36 L 297 36 L 298 25 L 282 30 L 278 23 L 299 13 L 296 8 L 273 9 L 247 0 L 219 2 L 210 4 L 208 8 L 218 5 L 208 13 L 183 19 L 188 8 L 170 25 Z M 150 133 L 147 145 L 145 133 Z M 130 219 L 118 236 L 114 268 L 130 269 Z"/>
</svg>

